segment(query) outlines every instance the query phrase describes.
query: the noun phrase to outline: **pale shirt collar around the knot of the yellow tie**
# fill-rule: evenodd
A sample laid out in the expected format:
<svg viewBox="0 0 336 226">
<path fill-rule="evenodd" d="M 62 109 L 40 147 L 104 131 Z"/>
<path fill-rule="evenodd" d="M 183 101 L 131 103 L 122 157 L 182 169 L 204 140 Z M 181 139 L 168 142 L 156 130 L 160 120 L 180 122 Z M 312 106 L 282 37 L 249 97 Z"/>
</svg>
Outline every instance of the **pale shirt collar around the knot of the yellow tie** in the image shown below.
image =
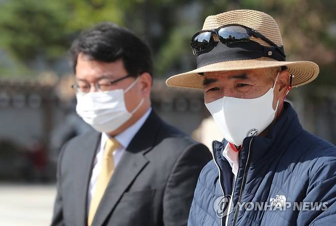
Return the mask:
<svg viewBox="0 0 336 226">
<path fill-rule="evenodd" d="M 152 107 L 150 107 L 141 118 L 136 121 L 132 126 L 125 129 L 123 132 L 116 135 L 114 138 L 123 146 L 124 148 L 127 148 L 128 145 L 131 143 L 133 137 L 135 134 L 139 131 L 139 129 L 142 127 L 142 125 L 146 122 L 147 118 L 151 114 Z M 102 144 L 105 144 L 106 140 L 109 138 L 109 135 L 107 133 L 102 133 Z"/>
</svg>

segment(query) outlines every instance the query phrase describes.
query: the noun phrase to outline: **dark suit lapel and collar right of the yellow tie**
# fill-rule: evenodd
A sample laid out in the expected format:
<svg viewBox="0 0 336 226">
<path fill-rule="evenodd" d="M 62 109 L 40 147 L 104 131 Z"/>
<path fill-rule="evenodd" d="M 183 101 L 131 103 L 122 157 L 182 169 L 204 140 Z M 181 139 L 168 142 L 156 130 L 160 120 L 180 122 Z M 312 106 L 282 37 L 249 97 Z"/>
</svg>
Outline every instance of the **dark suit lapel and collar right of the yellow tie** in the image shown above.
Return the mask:
<svg viewBox="0 0 336 226">
<path fill-rule="evenodd" d="M 144 155 L 153 148 L 155 137 L 161 125 L 162 121 L 154 110 L 152 110 L 146 122 L 133 137 L 129 147 L 126 148 L 122 159 L 115 168 L 114 174 L 93 218 L 92 225 L 102 225 L 104 223 L 125 190 L 142 169 L 146 167 L 149 160 Z"/>
</svg>

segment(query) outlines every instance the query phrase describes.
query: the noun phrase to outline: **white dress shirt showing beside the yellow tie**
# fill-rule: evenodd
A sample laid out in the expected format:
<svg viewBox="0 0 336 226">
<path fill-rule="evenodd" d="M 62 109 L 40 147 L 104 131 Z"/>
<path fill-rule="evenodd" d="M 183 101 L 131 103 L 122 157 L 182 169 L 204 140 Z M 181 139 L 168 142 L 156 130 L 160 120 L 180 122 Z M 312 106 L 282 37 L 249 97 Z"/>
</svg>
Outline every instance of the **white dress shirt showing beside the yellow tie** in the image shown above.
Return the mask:
<svg viewBox="0 0 336 226">
<path fill-rule="evenodd" d="M 135 134 L 139 131 L 139 129 L 145 123 L 151 111 L 152 111 L 152 107 L 150 107 L 146 111 L 146 113 L 138 121 L 136 121 L 132 126 L 130 126 L 126 130 L 124 130 L 122 133 L 114 137 L 117 140 L 117 142 L 119 142 L 120 144 L 120 146 L 115 151 L 113 151 L 114 168 L 118 165 L 126 148 L 131 143 L 131 140 L 133 139 Z M 94 193 L 95 184 L 97 183 L 97 179 L 102 170 L 104 148 L 105 148 L 105 143 L 108 138 L 109 138 L 109 135 L 107 133 L 102 133 L 101 142 L 100 142 L 100 145 L 98 146 L 97 154 L 95 155 L 95 158 L 94 158 L 92 176 L 91 176 L 89 190 L 87 194 L 87 205 L 88 205 L 87 210 L 89 210 L 90 208 L 91 197 Z"/>
</svg>

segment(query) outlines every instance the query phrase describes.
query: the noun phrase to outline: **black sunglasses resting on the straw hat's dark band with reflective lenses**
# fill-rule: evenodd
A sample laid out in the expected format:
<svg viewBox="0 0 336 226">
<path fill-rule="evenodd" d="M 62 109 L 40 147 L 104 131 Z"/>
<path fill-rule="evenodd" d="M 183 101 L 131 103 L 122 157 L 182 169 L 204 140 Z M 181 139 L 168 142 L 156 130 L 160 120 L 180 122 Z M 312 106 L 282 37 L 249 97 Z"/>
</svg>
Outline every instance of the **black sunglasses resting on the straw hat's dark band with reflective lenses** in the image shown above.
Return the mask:
<svg viewBox="0 0 336 226">
<path fill-rule="evenodd" d="M 214 36 L 214 34 L 217 37 Z M 218 41 L 229 46 L 232 43 L 249 42 L 251 41 L 252 36 L 255 38 L 260 38 L 274 46 L 275 49 L 281 53 L 281 55 L 285 56 L 282 47 L 279 47 L 259 32 L 241 24 L 227 24 L 220 26 L 217 29 L 197 32 L 193 38 L 191 38 L 190 45 L 193 49 L 194 55 L 199 55 L 213 49 Z"/>
</svg>

